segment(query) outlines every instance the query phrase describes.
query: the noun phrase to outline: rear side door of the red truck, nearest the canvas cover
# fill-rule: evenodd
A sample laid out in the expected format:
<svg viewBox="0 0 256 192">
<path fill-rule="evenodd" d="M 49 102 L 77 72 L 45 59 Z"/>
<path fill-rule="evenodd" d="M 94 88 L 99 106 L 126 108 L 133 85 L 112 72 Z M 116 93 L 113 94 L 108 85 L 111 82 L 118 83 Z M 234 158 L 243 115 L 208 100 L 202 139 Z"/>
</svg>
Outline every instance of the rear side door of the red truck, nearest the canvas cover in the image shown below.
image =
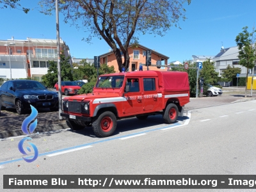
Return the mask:
<svg viewBox="0 0 256 192">
<path fill-rule="evenodd" d="M 158 100 L 156 90 L 156 78 L 143 78 L 142 100 L 144 111 L 150 111 L 154 109 L 154 106 L 156 107 L 156 102 Z"/>
</svg>

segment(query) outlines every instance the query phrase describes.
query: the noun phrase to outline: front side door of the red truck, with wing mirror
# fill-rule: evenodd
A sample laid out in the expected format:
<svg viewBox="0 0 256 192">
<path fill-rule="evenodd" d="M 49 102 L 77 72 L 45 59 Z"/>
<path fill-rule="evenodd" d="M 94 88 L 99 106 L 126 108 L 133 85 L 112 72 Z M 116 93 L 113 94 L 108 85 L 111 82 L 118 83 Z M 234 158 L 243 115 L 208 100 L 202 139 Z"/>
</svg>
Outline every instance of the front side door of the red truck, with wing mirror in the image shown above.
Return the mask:
<svg viewBox="0 0 256 192">
<path fill-rule="evenodd" d="M 143 111 L 142 99 L 141 99 L 141 78 L 127 78 L 125 83 L 126 86 L 130 86 L 129 92 L 124 90 L 124 102 L 123 102 L 123 113 L 130 114 L 138 113 Z"/>
</svg>

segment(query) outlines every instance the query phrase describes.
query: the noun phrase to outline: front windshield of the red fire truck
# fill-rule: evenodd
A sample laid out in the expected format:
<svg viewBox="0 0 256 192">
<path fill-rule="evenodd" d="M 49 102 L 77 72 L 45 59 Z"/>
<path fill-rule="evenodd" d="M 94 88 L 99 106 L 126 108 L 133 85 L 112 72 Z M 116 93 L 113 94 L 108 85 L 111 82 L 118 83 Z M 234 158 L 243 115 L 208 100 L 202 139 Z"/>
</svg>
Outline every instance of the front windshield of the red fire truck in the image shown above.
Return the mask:
<svg viewBox="0 0 256 192">
<path fill-rule="evenodd" d="M 123 85 L 124 76 L 99 77 L 96 87 L 98 88 L 120 88 Z"/>
</svg>

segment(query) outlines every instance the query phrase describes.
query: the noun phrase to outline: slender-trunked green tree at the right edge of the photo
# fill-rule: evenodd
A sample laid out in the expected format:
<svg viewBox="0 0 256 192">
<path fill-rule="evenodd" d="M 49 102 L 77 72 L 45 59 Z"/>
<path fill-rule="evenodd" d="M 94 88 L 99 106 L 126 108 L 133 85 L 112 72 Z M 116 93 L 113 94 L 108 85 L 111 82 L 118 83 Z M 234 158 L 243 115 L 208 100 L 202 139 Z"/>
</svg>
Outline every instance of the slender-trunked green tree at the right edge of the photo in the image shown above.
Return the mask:
<svg viewBox="0 0 256 192">
<path fill-rule="evenodd" d="M 253 68 L 255 65 L 256 54 L 255 54 L 255 36 L 253 33 L 256 30 L 253 28 L 252 33 L 248 32 L 248 27 L 243 28 L 243 32 L 236 36 L 236 44 L 239 49 L 239 65 L 247 68 L 246 72 L 246 85 L 245 85 L 245 97 L 247 95 L 247 83 L 248 83 L 248 71 L 249 68 Z"/>
</svg>

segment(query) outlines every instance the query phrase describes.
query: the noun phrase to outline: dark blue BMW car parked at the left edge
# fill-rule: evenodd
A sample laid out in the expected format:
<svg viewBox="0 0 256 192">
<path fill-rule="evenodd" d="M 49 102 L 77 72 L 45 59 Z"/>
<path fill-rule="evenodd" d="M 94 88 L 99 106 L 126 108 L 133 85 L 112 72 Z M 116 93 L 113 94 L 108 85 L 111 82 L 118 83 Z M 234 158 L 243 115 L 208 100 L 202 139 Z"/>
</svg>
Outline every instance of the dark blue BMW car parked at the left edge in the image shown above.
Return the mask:
<svg viewBox="0 0 256 192">
<path fill-rule="evenodd" d="M 26 110 L 35 108 L 50 108 L 58 110 L 58 93 L 51 92 L 38 81 L 12 80 L 6 81 L 0 88 L 0 106 L 15 108 L 19 115 Z"/>
</svg>

